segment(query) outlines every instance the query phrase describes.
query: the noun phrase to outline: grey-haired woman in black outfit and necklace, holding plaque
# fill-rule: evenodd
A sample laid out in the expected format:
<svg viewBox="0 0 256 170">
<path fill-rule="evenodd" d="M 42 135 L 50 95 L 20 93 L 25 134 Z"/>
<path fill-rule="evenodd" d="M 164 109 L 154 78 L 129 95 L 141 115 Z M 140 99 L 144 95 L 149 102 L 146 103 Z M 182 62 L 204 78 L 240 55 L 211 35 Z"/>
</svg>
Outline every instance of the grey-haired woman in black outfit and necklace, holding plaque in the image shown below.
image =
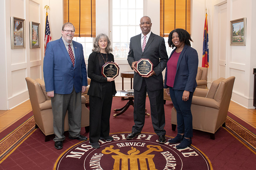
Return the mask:
<svg viewBox="0 0 256 170">
<path fill-rule="evenodd" d="M 92 53 L 88 59 L 87 74 L 91 79 L 88 95 L 90 99 L 90 144 L 99 148 L 99 139 L 112 141 L 109 136 L 109 118 L 116 86 L 113 78 L 103 77 L 102 66 L 114 62 L 110 39 L 106 34 L 99 34 L 93 43 Z"/>
</svg>

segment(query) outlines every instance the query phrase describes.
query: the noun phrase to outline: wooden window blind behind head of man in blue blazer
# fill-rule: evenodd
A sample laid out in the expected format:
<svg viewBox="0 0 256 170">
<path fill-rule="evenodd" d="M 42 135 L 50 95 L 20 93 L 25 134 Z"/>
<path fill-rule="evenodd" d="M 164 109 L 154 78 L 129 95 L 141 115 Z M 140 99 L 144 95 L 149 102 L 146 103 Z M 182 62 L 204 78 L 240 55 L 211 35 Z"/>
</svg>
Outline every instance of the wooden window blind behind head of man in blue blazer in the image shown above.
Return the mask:
<svg viewBox="0 0 256 170">
<path fill-rule="evenodd" d="M 96 37 L 95 0 L 63 0 L 64 23 L 75 27 L 75 37 Z"/>
</svg>

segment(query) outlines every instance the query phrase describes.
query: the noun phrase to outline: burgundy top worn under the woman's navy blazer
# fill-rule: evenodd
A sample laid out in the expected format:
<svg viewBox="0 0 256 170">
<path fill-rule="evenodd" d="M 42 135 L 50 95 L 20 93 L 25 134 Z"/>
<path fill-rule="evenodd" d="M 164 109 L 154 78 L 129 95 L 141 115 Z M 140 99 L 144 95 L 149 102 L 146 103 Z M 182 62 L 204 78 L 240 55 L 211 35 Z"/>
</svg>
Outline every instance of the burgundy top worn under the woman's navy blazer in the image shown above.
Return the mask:
<svg viewBox="0 0 256 170">
<path fill-rule="evenodd" d="M 181 52 L 177 53 L 176 50 L 171 55 L 171 58 L 167 62 L 167 80 L 166 85 L 173 87 L 175 75 L 177 71 L 177 63 Z"/>
</svg>

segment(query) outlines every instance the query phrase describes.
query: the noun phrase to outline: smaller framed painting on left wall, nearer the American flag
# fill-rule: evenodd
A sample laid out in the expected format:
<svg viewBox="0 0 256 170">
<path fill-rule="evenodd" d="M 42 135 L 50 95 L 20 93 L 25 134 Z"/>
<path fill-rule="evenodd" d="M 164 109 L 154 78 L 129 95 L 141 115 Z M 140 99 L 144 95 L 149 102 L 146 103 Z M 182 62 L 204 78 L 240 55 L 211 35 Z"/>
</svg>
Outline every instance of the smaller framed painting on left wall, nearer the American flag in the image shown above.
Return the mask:
<svg viewBox="0 0 256 170">
<path fill-rule="evenodd" d="M 29 23 L 30 48 L 40 48 L 40 24 L 30 21 Z"/>
</svg>

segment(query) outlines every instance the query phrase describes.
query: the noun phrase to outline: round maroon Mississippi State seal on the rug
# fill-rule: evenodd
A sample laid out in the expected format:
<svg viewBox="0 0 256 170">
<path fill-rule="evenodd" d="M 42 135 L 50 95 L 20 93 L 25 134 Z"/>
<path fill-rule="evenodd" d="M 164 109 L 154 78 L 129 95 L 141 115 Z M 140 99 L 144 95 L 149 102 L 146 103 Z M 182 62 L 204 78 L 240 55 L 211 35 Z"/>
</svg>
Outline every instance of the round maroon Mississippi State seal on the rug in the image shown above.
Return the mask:
<svg viewBox="0 0 256 170">
<path fill-rule="evenodd" d="M 130 133 L 130 132 L 129 132 Z M 95 149 L 89 140 L 72 146 L 60 155 L 54 169 L 85 170 L 169 170 L 200 169 L 210 170 L 212 164 L 207 156 L 195 146 L 177 149 L 177 144 L 158 143 L 158 136 L 142 133 L 127 140 L 129 134 L 111 134 L 113 141 L 99 140 L 100 148 Z M 166 136 L 166 140 L 171 137 Z"/>
</svg>

